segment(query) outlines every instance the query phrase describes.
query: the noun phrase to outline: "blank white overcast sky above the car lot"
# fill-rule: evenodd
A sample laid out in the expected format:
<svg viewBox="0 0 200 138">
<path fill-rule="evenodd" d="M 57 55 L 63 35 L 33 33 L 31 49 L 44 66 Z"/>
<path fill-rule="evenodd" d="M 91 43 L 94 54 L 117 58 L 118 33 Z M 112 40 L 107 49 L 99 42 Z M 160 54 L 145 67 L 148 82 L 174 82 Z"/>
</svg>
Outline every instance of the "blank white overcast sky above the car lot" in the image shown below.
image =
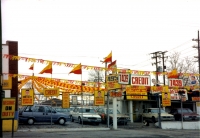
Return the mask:
<svg viewBox="0 0 200 138">
<path fill-rule="evenodd" d="M 1 0 L 2 41 L 18 41 L 18 55 L 104 67 L 112 51 L 119 68 L 154 71 L 153 52 L 197 56 L 199 0 Z M 32 63 L 19 61 L 19 74 Z M 34 73 L 45 64 L 35 64 Z M 53 78 L 80 80 L 53 66 Z M 88 79 L 83 70 L 82 79 Z M 50 74 L 40 76 L 51 77 Z"/>
</svg>

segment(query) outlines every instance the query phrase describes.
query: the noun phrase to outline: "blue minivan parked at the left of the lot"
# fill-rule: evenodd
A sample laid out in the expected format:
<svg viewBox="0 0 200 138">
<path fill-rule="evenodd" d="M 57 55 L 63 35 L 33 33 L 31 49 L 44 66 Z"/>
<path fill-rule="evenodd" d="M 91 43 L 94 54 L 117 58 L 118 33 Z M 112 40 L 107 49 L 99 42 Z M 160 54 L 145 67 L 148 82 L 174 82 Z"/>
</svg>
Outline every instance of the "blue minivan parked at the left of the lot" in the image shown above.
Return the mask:
<svg viewBox="0 0 200 138">
<path fill-rule="evenodd" d="M 57 112 L 48 105 L 24 106 L 19 111 L 19 122 L 29 125 L 35 122 L 53 122 L 64 125 L 68 120 L 70 120 L 69 115 Z"/>
</svg>

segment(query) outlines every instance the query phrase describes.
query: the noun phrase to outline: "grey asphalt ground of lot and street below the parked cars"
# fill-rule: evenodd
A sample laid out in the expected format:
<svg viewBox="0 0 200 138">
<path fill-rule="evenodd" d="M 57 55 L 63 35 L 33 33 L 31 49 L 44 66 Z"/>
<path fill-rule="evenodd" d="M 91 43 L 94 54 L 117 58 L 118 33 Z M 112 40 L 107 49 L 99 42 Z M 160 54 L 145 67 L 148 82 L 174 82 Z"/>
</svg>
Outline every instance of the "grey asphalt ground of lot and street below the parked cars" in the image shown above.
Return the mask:
<svg viewBox="0 0 200 138">
<path fill-rule="evenodd" d="M 47 131 L 48 130 L 48 131 Z M 11 132 L 3 132 L 3 137 L 12 137 Z M 55 125 L 49 123 L 34 125 L 20 124 L 13 137 L 17 138 L 199 138 L 199 130 L 163 130 L 150 124 L 143 126 L 142 123 L 128 123 L 128 125 L 118 125 L 117 130 L 112 126 L 108 128 L 106 124 L 78 124 L 67 122 L 65 125 Z"/>
</svg>

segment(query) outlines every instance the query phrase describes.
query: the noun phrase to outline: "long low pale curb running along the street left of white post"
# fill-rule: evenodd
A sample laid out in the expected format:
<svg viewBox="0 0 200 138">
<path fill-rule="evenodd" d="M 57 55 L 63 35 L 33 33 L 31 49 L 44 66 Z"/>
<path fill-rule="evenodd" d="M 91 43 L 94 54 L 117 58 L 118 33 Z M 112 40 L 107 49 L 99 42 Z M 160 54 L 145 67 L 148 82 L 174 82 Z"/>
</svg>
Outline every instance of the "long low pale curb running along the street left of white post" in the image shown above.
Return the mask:
<svg viewBox="0 0 200 138">
<path fill-rule="evenodd" d="M 65 129 L 55 129 L 55 128 L 49 128 L 49 129 L 22 129 L 22 130 L 17 130 L 17 132 L 35 132 L 35 131 L 42 131 L 42 132 L 62 132 L 62 131 L 102 131 L 102 130 L 110 130 L 110 128 L 65 128 Z"/>
</svg>

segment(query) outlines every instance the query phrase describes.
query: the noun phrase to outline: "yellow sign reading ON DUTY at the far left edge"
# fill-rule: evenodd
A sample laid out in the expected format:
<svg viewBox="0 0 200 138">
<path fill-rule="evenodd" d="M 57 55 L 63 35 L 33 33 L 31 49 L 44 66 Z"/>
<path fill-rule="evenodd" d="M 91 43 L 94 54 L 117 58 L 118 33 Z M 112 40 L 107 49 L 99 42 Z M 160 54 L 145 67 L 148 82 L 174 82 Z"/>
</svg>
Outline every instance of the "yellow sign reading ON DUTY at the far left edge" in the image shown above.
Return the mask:
<svg viewBox="0 0 200 138">
<path fill-rule="evenodd" d="M 15 98 L 3 98 L 2 99 L 2 119 L 11 119 L 15 117 Z"/>
</svg>

